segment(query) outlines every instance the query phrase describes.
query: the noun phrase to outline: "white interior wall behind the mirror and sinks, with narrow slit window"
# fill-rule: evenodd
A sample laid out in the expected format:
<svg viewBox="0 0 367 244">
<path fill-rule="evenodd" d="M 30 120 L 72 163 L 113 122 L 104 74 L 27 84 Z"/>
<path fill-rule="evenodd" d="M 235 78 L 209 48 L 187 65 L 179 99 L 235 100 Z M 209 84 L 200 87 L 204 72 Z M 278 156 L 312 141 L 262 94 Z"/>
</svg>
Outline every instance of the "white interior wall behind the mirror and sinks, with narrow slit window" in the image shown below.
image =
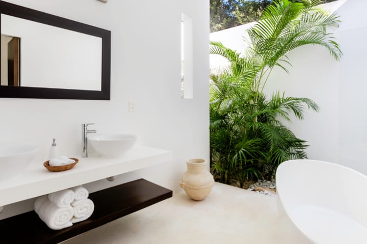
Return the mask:
<svg viewBox="0 0 367 244">
<path fill-rule="evenodd" d="M 120 175 L 114 182 L 96 181 L 87 188 L 98 190 L 143 177 L 181 191 L 178 182 L 186 160 L 209 157 L 209 1 L 8 2 L 110 29 L 111 101 L 2 98 L 1 141 L 38 145 L 36 162 L 42 164 L 52 138 L 58 139 L 61 153 L 81 155 L 82 123 L 96 123 L 99 133 L 136 133 L 139 144 L 172 150 L 172 162 Z M 180 98 L 181 12 L 193 18 L 194 28 L 194 98 L 189 100 Z M 135 113 L 128 113 L 128 100 L 135 102 Z M 31 210 L 32 201 L 5 206 L 0 218 Z"/>
</svg>

